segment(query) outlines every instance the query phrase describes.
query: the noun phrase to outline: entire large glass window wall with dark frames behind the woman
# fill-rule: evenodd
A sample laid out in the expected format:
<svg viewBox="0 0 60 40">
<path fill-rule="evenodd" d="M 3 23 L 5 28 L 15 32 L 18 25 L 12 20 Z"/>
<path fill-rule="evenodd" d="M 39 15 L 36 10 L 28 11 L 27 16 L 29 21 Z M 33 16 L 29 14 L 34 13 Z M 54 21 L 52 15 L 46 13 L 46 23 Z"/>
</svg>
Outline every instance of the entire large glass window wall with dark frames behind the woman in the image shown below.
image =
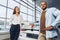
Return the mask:
<svg viewBox="0 0 60 40">
<path fill-rule="evenodd" d="M 16 1 L 20 2 L 21 4 L 23 4 L 25 6 L 17 3 Z M 27 4 L 29 4 L 30 6 L 35 7 L 34 2 L 32 0 L 23 0 L 23 1 L 26 2 Z M 34 14 L 35 14 L 35 12 L 33 10 L 35 10 L 35 9 L 28 6 L 23 1 L 22 0 L 8 0 L 8 7 L 12 8 L 12 9 L 14 9 L 15 6 L 20 7 L 21 12 L 23 12 L 23 13 L 21 13 L 21 15 L 22 15 L 23 19 L 25 20 L 25 22 L 26 23 L 32 23 L 32 22 L 35 21 L 35 17 L 33 17 Z M 33 5 L 31 5 L 30 3 L 33 4 Z M 7 24 L 6 24 L 6 19 L 5 19 L 6 18 L 6 7 L 3 7 L 1 5 L 7 6 L 7 0 L 0 0 L 0 28 L 8 28 L 9 29 L 10 28 L 9 18 L 12 16 L 13 10 L 9 9 L 9 8 L 7 9 L 7 18 L 8 19 L 7 19 Z M 39 6 L 37 6 L 37 7 L 38 8 L 36 8 L 36 9 L 40 10 Z M 26 13 L 26 14 L 24 14 L 24 13 Z M 30 16 L 30 15 L 33 15 L 33 16 Z M 36 20 L 39 20 L 40 12 L 37 11 L 36 16 L 37 16 Z"/>
</svg>

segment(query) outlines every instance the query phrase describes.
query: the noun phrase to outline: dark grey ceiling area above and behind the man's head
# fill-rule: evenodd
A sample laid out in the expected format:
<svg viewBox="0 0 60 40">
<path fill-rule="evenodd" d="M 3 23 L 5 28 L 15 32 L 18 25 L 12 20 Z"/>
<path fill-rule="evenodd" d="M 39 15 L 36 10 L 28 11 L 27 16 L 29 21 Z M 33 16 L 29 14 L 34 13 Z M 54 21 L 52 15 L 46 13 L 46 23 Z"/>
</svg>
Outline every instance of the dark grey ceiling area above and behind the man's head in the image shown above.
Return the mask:
<svg viewBox="0 0 60 40">
<path fill-rule="evenodd" d="M 40 6 L 40 3 L 42 1 L 46 1 L 48 4 L 48 7 L 56 7 L 60 9 L 60 0 L 37 0 L 37 5 Z"/>
</svg>

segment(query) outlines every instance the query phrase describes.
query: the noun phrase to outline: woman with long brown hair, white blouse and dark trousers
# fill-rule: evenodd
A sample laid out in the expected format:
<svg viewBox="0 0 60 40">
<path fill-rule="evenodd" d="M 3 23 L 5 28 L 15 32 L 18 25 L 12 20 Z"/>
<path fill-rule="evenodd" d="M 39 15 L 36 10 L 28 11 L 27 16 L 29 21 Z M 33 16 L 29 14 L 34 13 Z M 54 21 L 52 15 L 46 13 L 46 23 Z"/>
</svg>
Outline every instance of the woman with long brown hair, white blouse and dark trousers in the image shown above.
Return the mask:
<svg viewBox="0 0 60 40">
<path fill-rule="evenodd" d="M 18 40 L 20 33 L 20 26 L 24 23 L 22 16 L 20 15 L 20 9 L 16 6 L 13 10 L 13 15 L 10 18 L 10 40 Z"/>
</svg>

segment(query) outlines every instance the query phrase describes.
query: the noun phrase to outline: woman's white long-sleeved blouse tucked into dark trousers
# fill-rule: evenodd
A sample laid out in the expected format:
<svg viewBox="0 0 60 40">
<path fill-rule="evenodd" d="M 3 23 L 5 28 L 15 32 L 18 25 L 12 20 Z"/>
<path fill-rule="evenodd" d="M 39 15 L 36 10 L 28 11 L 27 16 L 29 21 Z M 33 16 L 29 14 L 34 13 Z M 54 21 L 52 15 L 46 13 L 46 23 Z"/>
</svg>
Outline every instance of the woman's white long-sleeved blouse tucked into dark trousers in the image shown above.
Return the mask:
<svg viewBox="0 0 60 40">
<path fill-rule="evenodd" d="M 20 25 L 21 25 L 22 23 L 24 23 L 23 17 L 22 17 L 21 15 L 16 16 L 16 15 L 14 14 L 14 15 L 12 15 L 11 18 L 10 18 L 9 25 L 11 25 L 11 24 L 14 24 L 14 25 L 20 24 Z"/>
</svg>

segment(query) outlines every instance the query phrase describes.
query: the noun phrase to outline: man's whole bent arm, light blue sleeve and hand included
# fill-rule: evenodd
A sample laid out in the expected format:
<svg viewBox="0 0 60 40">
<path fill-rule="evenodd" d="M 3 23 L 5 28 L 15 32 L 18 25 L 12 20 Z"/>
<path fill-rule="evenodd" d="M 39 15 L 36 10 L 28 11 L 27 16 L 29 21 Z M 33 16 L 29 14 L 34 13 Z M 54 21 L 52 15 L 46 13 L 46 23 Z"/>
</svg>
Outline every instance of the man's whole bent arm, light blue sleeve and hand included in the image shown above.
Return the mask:
<svg viewBox="0 0 60 40">
<path fill-rule="evenodd" d="M 46 27 L 44 30 L 52 30 L 53 28 L 56 29 L 58 25 L 58 23 L 60 23 L 60 10 L 55 9 L 55 11 L 53 12 L 53 15 L 56 16 L 55 21 L 51 24 L 51 26 Z"/>
</svg>

